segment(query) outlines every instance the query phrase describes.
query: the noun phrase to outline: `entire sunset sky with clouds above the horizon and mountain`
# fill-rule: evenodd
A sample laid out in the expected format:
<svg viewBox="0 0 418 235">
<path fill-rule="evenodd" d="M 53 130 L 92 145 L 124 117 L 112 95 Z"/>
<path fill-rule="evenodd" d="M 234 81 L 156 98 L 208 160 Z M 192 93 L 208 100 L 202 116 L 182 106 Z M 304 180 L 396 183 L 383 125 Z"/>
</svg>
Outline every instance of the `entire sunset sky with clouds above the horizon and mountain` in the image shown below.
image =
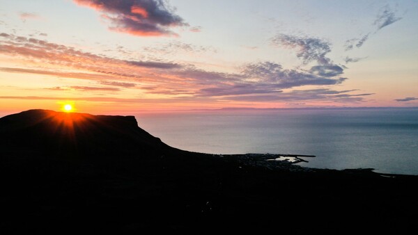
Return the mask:
<svg viewBox="0 0 418 235">
<path fill-rule="evenodd" d="M 418 106 L 418 1 L 0 0 L 0 113 Z"/>
</svg>

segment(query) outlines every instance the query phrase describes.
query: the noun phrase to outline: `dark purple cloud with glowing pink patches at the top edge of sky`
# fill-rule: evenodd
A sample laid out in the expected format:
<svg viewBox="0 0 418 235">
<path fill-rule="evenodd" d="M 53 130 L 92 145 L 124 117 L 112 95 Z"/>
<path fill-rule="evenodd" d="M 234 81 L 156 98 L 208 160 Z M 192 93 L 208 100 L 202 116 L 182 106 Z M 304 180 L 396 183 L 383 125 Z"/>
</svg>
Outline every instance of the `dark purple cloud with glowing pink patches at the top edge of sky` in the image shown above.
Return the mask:
<svg viewBox="0 0 418 235">
<path fill-rule="evenodd" d="M 162 0 L 73 0 L 79 6 L 98 10 L 111 23 L 109 29 L 137 36 L 177 35 L 170 29 L 188 26 Z"/>
</svg>

